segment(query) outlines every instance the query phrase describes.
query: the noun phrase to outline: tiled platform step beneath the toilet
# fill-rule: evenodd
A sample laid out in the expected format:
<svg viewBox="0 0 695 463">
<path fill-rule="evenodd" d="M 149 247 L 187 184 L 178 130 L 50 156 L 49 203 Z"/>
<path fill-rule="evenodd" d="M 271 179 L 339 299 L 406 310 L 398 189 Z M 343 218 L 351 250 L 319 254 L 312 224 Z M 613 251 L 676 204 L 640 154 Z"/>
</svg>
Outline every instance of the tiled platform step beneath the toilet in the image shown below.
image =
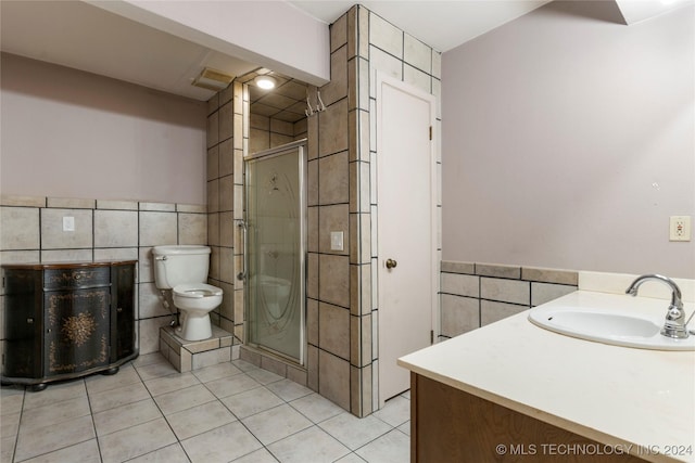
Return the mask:
<svg viewBox="0 0 695 463">
<path fill-rule="evenodd" d="M 231 361 L 231 333 L 213 325 L 213 335 L 202 340 L 186 340 L 172 326 L 160 329 L 160 352 L 180 373 Z"/>
</svg>

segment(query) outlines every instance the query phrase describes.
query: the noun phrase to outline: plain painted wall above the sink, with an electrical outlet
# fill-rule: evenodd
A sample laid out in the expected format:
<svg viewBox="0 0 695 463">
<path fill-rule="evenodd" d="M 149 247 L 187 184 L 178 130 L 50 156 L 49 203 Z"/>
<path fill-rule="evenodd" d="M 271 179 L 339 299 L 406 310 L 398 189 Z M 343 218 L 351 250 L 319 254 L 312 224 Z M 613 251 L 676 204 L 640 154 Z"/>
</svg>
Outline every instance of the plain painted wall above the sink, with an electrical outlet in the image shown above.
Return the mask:
<svg viewBox="0 0 695 463">
<path fill-rule="evenodd" d="M 694 24 L 552 2 L 442 59 L 443 259 L 695 276 Z"/>
</svg>

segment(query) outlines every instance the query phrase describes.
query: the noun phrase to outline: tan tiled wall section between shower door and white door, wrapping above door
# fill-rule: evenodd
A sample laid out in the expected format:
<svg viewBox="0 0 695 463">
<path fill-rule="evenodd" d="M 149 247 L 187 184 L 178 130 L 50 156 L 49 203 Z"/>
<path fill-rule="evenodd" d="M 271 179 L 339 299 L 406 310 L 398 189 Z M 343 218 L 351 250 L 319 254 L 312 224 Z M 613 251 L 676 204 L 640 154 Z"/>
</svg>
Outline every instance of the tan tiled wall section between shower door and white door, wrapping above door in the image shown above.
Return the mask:
<svg viewBox="0 0 695 463">
<path fill-rule="evenodd" d="M 331 25 L 327 108 L 308 118 L 308 385 L 357 416 L 378 409 L 377 70 L 439 99 L 440 59 L 353 7 Z M 349 245 L 331 250 L 330 232 L 341 230 Z"/>
</svg>

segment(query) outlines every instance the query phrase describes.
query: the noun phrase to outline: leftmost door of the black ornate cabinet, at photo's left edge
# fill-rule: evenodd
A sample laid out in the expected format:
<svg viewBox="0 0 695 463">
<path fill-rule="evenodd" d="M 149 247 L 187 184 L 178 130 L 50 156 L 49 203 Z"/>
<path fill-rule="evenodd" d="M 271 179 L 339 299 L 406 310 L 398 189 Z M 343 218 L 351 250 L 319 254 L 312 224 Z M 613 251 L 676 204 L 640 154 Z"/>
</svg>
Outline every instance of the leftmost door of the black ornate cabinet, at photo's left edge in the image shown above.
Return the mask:
<svg viewBox="0 0 695 463">
<path fill-rule="evenodd" d="M 7 377 L 41 377 L 41 272 L 5 270 L 4 278 L 5 355 L 2 374 Z"/>
</svg>

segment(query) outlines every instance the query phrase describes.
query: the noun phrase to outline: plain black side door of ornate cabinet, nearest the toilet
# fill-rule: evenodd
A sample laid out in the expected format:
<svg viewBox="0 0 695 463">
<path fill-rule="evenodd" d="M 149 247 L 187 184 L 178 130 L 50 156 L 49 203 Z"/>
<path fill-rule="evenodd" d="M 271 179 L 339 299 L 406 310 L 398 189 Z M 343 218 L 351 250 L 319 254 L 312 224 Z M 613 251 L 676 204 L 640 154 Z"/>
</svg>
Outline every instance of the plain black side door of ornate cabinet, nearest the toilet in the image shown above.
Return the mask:
<svg viewBox="0 0 695 463">
<path fill-rule="evenodd" d="M 112 362 L 135 353 L 135 265 L 111 268 Z"/>
</svg>

